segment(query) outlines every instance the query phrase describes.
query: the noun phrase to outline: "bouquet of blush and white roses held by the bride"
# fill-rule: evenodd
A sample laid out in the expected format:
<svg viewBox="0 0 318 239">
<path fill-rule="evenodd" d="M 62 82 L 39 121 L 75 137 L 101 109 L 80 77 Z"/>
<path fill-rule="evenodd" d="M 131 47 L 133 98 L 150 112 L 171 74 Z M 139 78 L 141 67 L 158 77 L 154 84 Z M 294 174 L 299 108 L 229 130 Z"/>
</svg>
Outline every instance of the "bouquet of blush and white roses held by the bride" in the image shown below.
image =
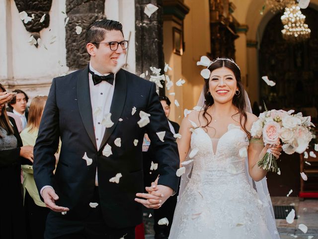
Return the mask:
<svg viewBox="0 0 318 239">
<path fill-rule="evenodd" d="M 313 138 L 310 127 L 315 125 L 311 122 L 311 117 L 303 117 L 302 113 L 293 114 L 294 110 L 267 111 L 266 107 L 265 110 L 253 123 L 251 136 L 263 138 L 264 144 L 282 144 L 283 151 L 287 154 L 303 153 Z M 270 149 L 257 165 L 267 171 L 278 172 L 276 158 Z"/>
</svg>

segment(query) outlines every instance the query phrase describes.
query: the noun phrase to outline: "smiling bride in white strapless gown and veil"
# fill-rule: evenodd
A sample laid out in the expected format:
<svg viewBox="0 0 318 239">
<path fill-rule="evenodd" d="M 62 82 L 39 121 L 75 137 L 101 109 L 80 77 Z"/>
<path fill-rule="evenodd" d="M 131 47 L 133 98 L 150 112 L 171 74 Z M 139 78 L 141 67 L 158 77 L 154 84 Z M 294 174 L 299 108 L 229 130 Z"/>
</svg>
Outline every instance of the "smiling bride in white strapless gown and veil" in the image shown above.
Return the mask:
<svg viewBox="0 0 318 239">
<path fill-rule="evenodd" d="M 184 118 L 179 131 L 180 162 L 187 169 L 169 239 L 279 239 L 267 171 L 257 161 L 268 149 L 278 158 L 281 147 L 250 140 L 257 117 L 246 112 L 239 66 L 218 58 L 208 69 L 202 109 Z"/>
</svg>

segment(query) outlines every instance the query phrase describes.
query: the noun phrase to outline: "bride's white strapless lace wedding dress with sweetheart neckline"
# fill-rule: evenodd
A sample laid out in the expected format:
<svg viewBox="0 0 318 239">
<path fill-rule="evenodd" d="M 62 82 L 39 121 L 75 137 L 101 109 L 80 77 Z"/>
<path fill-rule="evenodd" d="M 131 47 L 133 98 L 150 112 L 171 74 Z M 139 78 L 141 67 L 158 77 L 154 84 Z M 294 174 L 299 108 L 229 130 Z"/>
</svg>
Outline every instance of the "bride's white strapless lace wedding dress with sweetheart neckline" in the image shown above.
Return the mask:
<svg viewBox="0 0 318 239">
<path fill-rule="evenodd" d="M 214 142 L 214 145 L 213 143 Z M 179 195 L 169 239 L 273 239 L 266 226 L 264 205 L 245 174 L 239 150 L 249 141 L 239 126 L 230 124 L 219 139 L 202 128 L 191 135 L 193 169 Z"/>
</svg>

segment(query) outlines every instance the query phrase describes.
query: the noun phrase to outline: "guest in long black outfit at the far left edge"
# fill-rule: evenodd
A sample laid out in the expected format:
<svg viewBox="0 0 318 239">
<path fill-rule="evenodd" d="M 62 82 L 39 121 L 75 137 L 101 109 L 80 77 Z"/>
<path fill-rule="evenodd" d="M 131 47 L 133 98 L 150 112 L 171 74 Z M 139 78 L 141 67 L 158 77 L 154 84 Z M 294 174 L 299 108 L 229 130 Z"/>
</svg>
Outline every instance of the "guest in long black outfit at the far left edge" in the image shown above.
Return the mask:
<svg viewBox="0 0 318 239">
<path fill-rule="evenodd" d="M 0 84 L 0 93 L 5 88 Z M 6 114 L 0 103 L 0 238 L 25 239 L 22 207 L 20 167 L 21 161 L 33 161 L 33 147 L 22 146 L 13 118 Z"/>
</svg>

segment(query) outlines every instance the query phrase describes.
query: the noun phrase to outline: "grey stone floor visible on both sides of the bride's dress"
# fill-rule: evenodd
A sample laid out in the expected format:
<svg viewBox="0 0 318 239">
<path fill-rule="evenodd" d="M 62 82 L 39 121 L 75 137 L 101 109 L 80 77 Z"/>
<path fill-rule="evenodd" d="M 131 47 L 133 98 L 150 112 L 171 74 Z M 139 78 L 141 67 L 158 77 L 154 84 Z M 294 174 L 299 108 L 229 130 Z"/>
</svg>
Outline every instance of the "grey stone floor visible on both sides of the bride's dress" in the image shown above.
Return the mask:
<svg viewBox="0 0 318 239">
<path fill-rule="evenodd" d="M 299 200 L 297 197 L 272 197 L 273 206 L 295 206 L 296 217 L 292 224 L 285 219 L 276 219 L 276 226 L 281 239 L 318 239 L 318 199 Z M 154 239 L 153 220 L 145 218 L 146 239 Z M 308 227 L 304 234 L 298 229 L 300 224 Z"/>
</svg>

